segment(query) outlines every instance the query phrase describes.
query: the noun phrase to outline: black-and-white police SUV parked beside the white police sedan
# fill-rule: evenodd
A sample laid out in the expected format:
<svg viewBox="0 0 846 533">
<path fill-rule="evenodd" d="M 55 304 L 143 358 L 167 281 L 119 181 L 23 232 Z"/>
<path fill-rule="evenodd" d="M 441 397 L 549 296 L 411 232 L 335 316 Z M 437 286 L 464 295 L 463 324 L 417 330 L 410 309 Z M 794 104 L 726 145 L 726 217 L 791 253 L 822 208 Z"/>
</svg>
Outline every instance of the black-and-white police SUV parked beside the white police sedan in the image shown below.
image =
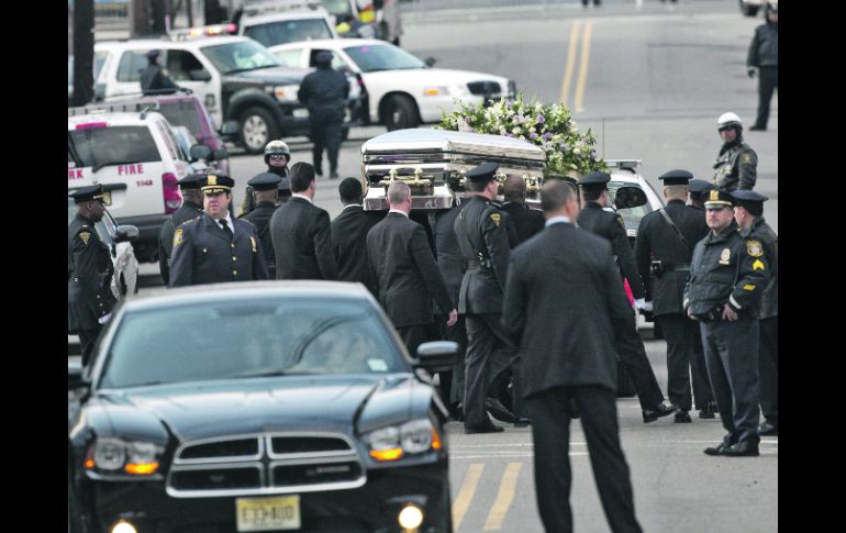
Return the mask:
<svg viewBox="0 0 846 533">
<path fill-rule="evenodd" d="M 180 30 L 170 38 L 99 42 L 94 52 L 109 55 L 96 82 L 107 99 L 141 92 L 144 54 L 158 49 L 170 78 L 200 97 L 215 123 L 237 121 L 247 153 L 261 153 L 274 138 L 308 134 L 309 112 L 297 92 L 309 71 L 285 68 L 256 41 L 226 31 L 216 25 Z M 350 95 L 350 102 L 358 96 Z"/>
</svg>

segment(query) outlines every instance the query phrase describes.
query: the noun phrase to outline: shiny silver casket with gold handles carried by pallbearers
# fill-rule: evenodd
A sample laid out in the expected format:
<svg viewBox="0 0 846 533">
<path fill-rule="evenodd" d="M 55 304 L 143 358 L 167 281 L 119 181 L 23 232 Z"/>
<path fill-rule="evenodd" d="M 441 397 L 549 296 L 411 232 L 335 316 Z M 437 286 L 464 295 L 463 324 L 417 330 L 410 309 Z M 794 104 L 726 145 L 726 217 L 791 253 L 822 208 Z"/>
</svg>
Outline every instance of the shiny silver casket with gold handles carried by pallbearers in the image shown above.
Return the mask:
<svg viewBox="0 0 846 533">
<path fill-rule="evenodd" d="M 539 207 L 546 155 L 519 138 L 444 130 L 397 130 L 361 146 L 361 176 L 367 211 L 387 210 L 386 192 L 393 180 L 411 187 L 412 209 L 449 209 L 465 195 L 464 173 L 482 163 L 499 163 L 497 179 L 520 176 L 530 207 Z"/>
</svg>

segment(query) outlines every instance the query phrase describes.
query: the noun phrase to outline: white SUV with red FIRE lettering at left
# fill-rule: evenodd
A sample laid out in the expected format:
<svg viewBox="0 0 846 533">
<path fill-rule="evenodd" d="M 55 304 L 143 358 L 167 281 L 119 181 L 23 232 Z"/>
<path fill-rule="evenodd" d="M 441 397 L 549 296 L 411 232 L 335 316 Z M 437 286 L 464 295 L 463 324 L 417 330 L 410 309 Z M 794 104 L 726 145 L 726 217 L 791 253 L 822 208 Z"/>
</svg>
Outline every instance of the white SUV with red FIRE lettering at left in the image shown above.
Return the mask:
<svg viewBox="0 0 846 533">
<path fill-rule="evenodd" d="M 162 224 L 182 202 L 177 182 L 191 167 L 164 116 L 112 112 L 119 107 L 68 108 L 68 191 L 102 184 L 118 223 L 138 227 L 135 255 L 155 260 Z"/>
</svg>

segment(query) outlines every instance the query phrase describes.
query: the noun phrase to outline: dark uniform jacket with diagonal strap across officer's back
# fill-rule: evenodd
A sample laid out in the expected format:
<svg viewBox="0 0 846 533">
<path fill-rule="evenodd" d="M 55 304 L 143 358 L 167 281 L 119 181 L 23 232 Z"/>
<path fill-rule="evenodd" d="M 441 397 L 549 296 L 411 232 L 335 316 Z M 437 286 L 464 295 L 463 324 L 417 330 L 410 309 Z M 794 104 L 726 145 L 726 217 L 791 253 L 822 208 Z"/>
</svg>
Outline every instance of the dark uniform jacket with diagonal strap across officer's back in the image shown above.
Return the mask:
<svg viewBox="0 0 846 533">
<path fill-rule="evenodd" d="M 635 241 L 637 270 L 646 289 L 646 298 L 653 301 L 653 313 L 683 313 L 682 306 L 684 282 L 690 270 L 675 270 L 676 266 L 690 265 L 693 246 L 708 235 L 708 224 L 702 210 L 684 206 L 681 200 L 671 200 L 664 208 L 676 226 L 684 235 L 689 247 L 681 242 L 661 213 L 653 211 L 641 219 Z M 649 262 L 660 260 L 664 275 L 656 278 L 649 275 Z"/>
</svg>

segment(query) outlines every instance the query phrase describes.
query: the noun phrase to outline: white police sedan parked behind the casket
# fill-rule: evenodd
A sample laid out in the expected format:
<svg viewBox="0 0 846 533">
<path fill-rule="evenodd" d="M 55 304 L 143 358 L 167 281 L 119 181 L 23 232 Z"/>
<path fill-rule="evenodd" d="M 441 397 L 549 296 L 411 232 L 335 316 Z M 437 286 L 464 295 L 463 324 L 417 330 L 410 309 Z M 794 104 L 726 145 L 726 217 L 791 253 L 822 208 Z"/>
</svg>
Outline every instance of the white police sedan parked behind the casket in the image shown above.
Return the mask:
<svg viewBox="0 0 846 533">
<path fill-rule="evenodd" d="M 516 84 L 502 76 L 431 68 L 399 46 L 372 38 L 307 41 L 271 46 L 289 67 L 314 65 L 318 53 L 332 53 L 332 67 L 360 77 L 367 95 L 367 119 L 388 131 L 416 127 L 441 121 L 442 112 L 458 103 L 475 104 L 486 99 L 514 98 Z"/>
</svg>

